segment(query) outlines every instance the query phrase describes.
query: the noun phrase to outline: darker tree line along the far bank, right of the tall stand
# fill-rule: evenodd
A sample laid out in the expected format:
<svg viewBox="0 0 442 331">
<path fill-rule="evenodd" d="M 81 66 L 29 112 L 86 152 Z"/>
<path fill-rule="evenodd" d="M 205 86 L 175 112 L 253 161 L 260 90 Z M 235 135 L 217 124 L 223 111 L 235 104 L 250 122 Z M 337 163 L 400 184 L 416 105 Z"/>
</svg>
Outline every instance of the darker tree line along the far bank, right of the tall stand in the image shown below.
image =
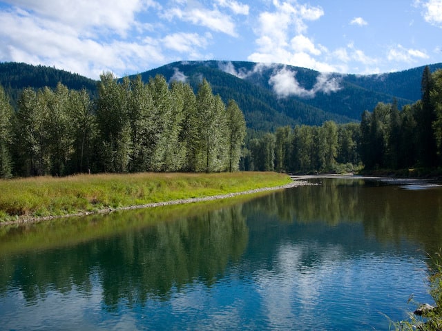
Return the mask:
<svg viewBox="0 0 442 331">
<path fill-rule="evenodd" d="M 281 172 L 400 170 L 442 166 L 442 70 L 425 67 L 421 100 L 365 110 L 360 123 L 277 128 L 249 140 L 242 167 Z"/>
</svg>

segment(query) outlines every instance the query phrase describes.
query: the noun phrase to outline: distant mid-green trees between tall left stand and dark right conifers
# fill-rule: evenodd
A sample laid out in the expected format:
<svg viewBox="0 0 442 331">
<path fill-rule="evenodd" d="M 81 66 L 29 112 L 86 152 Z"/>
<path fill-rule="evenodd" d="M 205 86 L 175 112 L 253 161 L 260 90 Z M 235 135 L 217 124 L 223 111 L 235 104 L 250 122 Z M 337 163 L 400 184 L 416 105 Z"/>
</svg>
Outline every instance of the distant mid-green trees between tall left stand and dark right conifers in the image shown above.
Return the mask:
<svg viewBox="0 0 442 331">
<path fill-rule="evenodd" d="M 281 127 L 251 139 L 247 170 L 294 173 L 352 172 L 359 168 L 361 134 L 356 123 Z"/>
</svg>

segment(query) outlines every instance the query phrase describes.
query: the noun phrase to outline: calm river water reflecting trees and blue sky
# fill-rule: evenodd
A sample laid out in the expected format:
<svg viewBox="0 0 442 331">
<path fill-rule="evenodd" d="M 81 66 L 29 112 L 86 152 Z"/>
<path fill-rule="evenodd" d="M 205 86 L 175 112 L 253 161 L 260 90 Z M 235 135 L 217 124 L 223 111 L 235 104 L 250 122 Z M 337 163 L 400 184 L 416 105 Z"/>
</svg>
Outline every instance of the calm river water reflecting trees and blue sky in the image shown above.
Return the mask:
<svg viewBox="0 0 442 331">
<path fill-rule="evenodd" d="M 439 185 L 314 182 L 0 228 L 0 330 L 389 330 L 431 303 Z"/>
</svg>

